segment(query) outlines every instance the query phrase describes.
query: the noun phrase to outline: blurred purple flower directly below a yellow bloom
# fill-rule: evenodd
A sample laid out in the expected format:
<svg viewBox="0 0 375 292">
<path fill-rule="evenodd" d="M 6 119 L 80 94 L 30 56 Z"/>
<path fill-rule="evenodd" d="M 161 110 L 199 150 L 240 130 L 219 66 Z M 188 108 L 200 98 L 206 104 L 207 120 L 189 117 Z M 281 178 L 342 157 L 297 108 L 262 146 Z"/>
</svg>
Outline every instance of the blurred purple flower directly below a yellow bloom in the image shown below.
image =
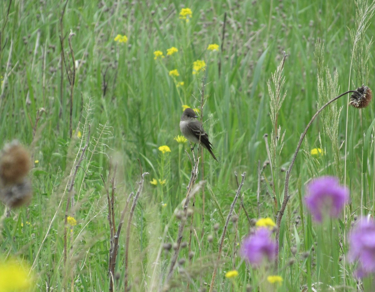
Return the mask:
<svg viewBox="0 0 375 292">
<path fill-rule="evenodd" d="M 259 267 L 267 259 L 273 261 L 277 254 L 276 241 L 268 228 L 259 228 L 241 244 L 241 256 L 253 267 Z"/>
</svg>

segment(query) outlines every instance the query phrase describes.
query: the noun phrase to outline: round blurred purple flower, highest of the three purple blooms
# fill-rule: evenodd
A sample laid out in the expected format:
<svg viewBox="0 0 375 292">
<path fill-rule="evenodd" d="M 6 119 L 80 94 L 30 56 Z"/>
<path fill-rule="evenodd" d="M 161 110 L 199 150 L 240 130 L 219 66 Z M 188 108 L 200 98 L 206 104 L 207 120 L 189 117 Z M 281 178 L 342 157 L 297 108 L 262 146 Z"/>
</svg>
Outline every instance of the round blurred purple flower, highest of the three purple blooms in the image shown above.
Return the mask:
<svg viewBox="0 0 375 292">
<path fill-rule="evenodd" d="M 306 207 L 318 222 L 323 217 L 339 217 L 349 200 L 349 190 L 340 186 L 336 177 L 317 178 L 307 185 L 306 192 Z"/>
</svg>

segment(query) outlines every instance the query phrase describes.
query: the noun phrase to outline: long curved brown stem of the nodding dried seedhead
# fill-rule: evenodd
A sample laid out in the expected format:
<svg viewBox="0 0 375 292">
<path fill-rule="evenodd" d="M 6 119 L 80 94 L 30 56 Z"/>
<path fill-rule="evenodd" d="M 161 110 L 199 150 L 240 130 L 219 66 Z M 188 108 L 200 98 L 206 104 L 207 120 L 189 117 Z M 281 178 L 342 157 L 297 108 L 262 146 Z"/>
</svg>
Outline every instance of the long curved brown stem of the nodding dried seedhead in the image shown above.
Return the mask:
<svg viewBox="0 0 375 292">
<path fill-rule="evenodd" d="M 276 215 L 276 242 L 278 244 L 279 244 L 279 236 L 280 236 L 281 219 L 282 219 L 282 216 L 284 215 L 285 208 L 287 207 L 287 203 L 288 203 L 289 198 L 290 198 L 290 195 L 289 195 L 289 177 L 290 177 L 290 173 L 292 171 L 294 162 L 296 161 L 296 157 L 297 157 L 298 151 L 301 148 L 303 138 L 305 138 L 306 133 L 307 133 L 309 127 L 311 126 L 312 122 L 315 120 L 315 118 L 317 117 L 317 115 L 320 114 L 320 112 L 323 111 L 323 109 L 325 109 L 330 103 L 334 102 L 335 100 L 339 99 L 340 97 L 342 97 L 342 96 L 344 96 L 344 95 L 346 95 L 348 93 L 358 93 L 358 91 L 357 90 L 348 90 L 348 91 L 340 94 L 339 96 L 336 96 L 335 98 L 333 98 L 329 102 L 327 102 L 325 105 L 323 105 L 315 113 L 315 115 L 311 118 L 311 120 L 309 121 L 308 125 L 306 126 L 305 131 L 303 131 L 303 133 L 301 134 L 301 138 L 300 138 L 300 141 L 298 142 L 297 149 L 294 152 L 294 156 L 292 158 L 292 161 L 291 161 L 291 163 L 289 165 L 288 170 L 285 172 L 284 200 L 282 202 L 280 210 L 278 211 L 278 214 Z"/>
</svg>

